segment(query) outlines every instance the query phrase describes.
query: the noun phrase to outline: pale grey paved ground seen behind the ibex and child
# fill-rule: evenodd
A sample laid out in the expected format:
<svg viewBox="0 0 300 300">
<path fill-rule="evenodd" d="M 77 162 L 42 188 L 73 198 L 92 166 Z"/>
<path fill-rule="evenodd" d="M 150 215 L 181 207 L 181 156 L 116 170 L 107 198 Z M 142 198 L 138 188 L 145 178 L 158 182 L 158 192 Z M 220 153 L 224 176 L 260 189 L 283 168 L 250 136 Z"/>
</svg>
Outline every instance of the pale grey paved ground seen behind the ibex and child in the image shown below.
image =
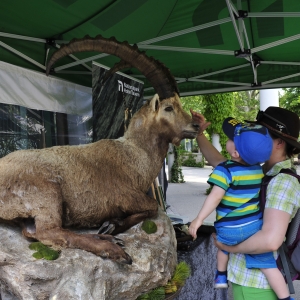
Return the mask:
<svg viewBox="0 0 300 300">
<path fill-rule="evenodd" d="M 185 183 L 169 183 L 166 192 L 167 204 L 170 205 L 168 213 L 182 217 L 184 223 L 191 222 L 198 214 L 206 198 L 205 191 L 209 188 L 207 179 L 212 172 L 212 167 L 204 168 L 182 167 Z M 166 170 L 168 174 L 168 170 Z M 297 168 L 300 174 L 300 166 Z M 212 225 L 215 214 L 212 213 L 206 220 L 206 225 Z M 300 300 L 300 280 L 294 281 L 296 294 L 295 300 Z M 228 291 L 228 300 L 233 300 L 231 289 Z M 238 299 L 237 299 L 238 300 Z"/>
</svg>

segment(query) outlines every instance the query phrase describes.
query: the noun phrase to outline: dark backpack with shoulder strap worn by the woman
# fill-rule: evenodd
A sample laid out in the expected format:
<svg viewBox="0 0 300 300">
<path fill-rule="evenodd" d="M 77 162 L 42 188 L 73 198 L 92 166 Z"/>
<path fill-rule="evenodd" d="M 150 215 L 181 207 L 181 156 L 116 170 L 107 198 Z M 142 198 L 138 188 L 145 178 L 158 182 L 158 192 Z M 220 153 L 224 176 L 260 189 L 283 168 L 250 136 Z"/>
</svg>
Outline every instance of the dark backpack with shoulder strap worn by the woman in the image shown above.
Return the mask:
<svg viewBox="0 0 300 300">
<path fill-rule="evenodd" d="M 298 179 L 300 183 L 300 176 L 291 169 L 282 169 L 279 173 L 289 174 Z M 276 176 L 276 175 L 275 175 Z M 266 192 L 269 182 L 275 176 L 265 176 L 262 180 L 260 190 L 260 207 L 264 211 L 266 204 Z M 277 266 L 283 274 L 291 294 L 295 294 L 293 280 L 300 280 L 300 209 L 290 222 L 287 232 L 286 240 L 278 249 Z"/>
</svg>

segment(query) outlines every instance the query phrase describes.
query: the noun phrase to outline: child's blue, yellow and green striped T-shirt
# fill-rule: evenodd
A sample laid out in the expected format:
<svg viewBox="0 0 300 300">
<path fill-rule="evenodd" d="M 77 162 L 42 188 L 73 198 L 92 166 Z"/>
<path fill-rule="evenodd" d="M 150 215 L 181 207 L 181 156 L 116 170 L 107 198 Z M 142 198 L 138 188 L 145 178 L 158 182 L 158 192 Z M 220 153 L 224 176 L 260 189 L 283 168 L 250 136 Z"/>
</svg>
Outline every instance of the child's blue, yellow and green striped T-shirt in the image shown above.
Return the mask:
<svg viewBox="0 0 300 300">
<path fill-rule="evenodd" d="M 241 225 L 262 218 L 259 191 L 263 176 L 260 165 L 243 165 L 232 160 L 214 169 L 207 182 L 226 191 L 216 208 L 215 227 Z"/>
</svg>

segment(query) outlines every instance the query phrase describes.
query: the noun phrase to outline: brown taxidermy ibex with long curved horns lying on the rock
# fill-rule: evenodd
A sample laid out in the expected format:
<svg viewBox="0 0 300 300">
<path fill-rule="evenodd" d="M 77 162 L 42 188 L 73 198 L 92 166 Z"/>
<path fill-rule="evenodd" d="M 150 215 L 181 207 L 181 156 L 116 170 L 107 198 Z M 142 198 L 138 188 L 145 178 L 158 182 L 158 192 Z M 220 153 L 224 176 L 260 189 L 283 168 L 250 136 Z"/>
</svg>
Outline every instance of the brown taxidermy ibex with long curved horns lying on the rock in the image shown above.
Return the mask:
<svg viewBox="0 0 300 300">
<path fill-rule="evenodd" d="M 127 42 L 101 36 L 73 40 L 53 54 L 47 74 L 57 60 L 80 51 L 118 56 L 126 66 L 145 75 L 157 94 L 133 116 L 122 138 L 20 150 L 2 158 L 0 220 L 34 221 L 35 226 L 23 228 L 24 236 L 54 248 L 83 249 L 130 264 L 122 241 L 112 235 L 157 214 L 157 202 L 146 192 L 162 167 L 168 144 L 194 138 L 198 126 L 182 109 L 169 70 Z M 111 73 L 122 65 L 116 65 Z M 77 234 L 66 229 L 103 223 L 101 232 L 112 235 Z"/>
</svg>

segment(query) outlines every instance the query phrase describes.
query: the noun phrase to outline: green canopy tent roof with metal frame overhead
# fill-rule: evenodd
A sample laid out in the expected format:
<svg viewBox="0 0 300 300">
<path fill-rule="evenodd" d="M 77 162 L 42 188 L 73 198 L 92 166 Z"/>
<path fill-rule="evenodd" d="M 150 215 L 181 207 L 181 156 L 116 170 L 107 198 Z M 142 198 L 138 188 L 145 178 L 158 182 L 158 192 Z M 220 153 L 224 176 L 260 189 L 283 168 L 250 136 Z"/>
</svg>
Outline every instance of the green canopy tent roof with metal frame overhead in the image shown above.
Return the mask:
<svg viewBox="0 0 300 300">
<path fill-rule="evenodd" d="M 300 85 L 299 1 L 2 0 L 0 20 L 0 61 L 40 72 L 62 43 L 101 34 L 162 61 L 181 96 Z M 91 87 L 92 61 L 117 59 L 77 53 L 51 76 Z"/>
</svg>

